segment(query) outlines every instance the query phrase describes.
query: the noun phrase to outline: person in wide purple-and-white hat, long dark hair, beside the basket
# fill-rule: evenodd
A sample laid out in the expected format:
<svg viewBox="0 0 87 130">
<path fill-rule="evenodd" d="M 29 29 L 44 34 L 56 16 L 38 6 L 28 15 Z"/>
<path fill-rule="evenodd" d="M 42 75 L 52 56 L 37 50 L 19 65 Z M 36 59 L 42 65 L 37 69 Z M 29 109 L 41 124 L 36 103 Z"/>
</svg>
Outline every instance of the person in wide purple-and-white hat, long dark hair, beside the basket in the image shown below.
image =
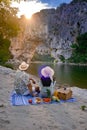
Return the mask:
<svg viewBox="0 0 87 130">
<path fill-rule="evenodd" d="M 47 97 L 48 94 L 47 94 L 47 91 L 49 90 L 50 91 L 50 94 L 52 95 L 53 92 L 54 92 L 54 86 L 55 86 L 55 78 L 54 78 L 54 70 L 49 67 L 49 66 L 46 66 L 45 68 L 43 68 L 41 70 L 41 92 L 40 92 L 40 95 L 42 97 Z"/>
</svg>

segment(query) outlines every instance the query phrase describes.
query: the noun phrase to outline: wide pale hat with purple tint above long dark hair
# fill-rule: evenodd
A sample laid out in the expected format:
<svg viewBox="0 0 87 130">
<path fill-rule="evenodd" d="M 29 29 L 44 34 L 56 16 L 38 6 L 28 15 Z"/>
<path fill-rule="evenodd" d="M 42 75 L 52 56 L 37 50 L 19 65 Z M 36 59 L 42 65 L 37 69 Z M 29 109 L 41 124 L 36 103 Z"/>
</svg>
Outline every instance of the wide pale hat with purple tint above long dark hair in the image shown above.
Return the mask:
<svg viewBox="0 0 87 130">
<path fill-rule="evenodd" d="M 43 68 L 41 70 L 41 74 L 44 76 L 44 77 L 50 77 L 52 79 L 52 76 L 54 75 L 54 70 L 49 67 L 49 66 L 46 66 L 45 68 Z"/>
</svg>

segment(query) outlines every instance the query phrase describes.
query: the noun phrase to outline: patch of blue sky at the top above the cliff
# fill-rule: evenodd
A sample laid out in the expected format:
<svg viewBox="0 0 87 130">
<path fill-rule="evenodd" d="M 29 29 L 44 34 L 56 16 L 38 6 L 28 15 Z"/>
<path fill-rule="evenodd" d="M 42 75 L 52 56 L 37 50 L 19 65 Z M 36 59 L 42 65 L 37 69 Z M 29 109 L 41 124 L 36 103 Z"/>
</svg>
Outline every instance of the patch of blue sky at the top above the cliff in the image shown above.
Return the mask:
<svg viewBox="0 0 87 130">
<path fill-rule="evenodd" d="M 47 3 L 49 6 L 57 7 L 61 3 L 70 3 L 72 0 L 39 0 L 42 3 Z"/>
</svg>

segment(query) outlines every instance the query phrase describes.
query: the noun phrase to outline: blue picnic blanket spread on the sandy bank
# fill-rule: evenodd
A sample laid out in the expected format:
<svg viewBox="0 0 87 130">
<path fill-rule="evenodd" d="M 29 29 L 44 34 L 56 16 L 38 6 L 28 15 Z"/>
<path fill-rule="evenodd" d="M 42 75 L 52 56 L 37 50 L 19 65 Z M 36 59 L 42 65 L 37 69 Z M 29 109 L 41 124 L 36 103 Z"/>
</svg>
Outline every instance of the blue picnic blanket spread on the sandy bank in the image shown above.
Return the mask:
<svg viewBox="0 0 87 130">
<path fill-rule="evenodd" d="M 11 97 L 10 97 L 10 102 L 11 105 L 13 106 L 26 106 L 26 105 L 31 105 L 29 103 L 29 99 L 32 99 L 32 105 L 37 104 L 36 103 L 36 97 L 32 97 L 30 95 L 23 96 L 23 95 L 18 95 L 16 92 L 12 92 Z M 64 102 L 76 102 L 75 98 L 70 98 L 68 100 L 60 100 L 60 102 L 52 101 L 50 104 L 59 104 L 59 103 L 64 103 Z M 40 103 L 40 104 L 48 104 L 48 103 Z"/>
</svg>

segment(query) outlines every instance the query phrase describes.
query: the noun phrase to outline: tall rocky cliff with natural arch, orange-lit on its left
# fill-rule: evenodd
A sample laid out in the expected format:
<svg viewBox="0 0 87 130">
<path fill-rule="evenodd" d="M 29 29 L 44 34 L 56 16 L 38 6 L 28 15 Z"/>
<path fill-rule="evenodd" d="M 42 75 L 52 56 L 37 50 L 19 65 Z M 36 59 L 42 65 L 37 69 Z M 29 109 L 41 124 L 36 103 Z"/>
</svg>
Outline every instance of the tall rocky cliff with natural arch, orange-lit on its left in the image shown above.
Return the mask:
<svg viewBox="0 0 87 130">
<path fill-rule="evenodd" d="M 57 9 L 45 9 L 25 22 L 25 31 L 12 40 L 11 52 L 15 59 L 30 62 L 35 50 L 51 54 L 58 61 L 72 54 L 71 44 L 87 32 L 87 2 L 61 4 Z"/>
</svg>

